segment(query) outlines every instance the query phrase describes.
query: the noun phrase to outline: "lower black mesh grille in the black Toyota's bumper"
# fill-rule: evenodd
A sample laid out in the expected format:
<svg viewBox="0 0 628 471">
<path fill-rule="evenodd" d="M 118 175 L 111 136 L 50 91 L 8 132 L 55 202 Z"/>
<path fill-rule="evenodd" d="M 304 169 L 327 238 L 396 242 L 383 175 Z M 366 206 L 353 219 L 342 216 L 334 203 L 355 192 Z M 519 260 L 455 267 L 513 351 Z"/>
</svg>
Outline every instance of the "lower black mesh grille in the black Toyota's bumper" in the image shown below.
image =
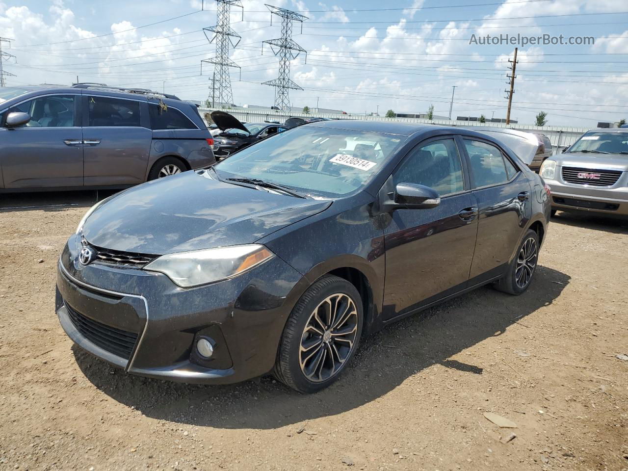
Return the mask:
<svg viewBox="0 0 628 471">
<path fill-rule="evenodd" d="M 92 344 L 125 360 L 131 358 L 133 347 L 138 340 L 137 333 L 101 324 L 73 310 L 67 303 L 65 308 L 74 327 Z"/>
</svg>

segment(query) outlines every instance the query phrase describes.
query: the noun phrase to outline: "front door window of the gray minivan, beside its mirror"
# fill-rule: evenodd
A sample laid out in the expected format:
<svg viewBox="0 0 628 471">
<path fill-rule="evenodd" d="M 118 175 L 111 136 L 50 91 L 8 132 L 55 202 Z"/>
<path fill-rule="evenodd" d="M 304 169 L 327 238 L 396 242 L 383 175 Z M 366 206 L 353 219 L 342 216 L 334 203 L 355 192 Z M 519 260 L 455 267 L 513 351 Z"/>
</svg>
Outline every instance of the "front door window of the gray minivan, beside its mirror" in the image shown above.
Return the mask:
<svg viewBox="0 0 628 471">
<path fill-rule="evenodd" d="M 31 115 L 26 127 L 70 127 L 74 126 L 74 95 L 48 95 L 33 98 L 9 110 L 22 111 Z"/>
</svg>

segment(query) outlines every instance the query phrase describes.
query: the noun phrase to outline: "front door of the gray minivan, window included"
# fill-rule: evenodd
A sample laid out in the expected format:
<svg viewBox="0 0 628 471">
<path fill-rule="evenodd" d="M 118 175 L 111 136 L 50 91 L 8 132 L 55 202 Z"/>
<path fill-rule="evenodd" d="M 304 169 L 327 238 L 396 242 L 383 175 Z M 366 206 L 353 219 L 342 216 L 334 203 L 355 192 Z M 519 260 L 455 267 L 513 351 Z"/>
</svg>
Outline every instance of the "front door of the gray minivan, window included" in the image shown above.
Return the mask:
<svg viewBox="0 0 628 471">
<path fill-rule="evenodd" d="M 31 121 L 4 126 L 13 111 Z M 11 107 L 3 113 L 0 143 L 5 188 L 82 187 L 80 95 L 42 95 Z"/>
</svg>

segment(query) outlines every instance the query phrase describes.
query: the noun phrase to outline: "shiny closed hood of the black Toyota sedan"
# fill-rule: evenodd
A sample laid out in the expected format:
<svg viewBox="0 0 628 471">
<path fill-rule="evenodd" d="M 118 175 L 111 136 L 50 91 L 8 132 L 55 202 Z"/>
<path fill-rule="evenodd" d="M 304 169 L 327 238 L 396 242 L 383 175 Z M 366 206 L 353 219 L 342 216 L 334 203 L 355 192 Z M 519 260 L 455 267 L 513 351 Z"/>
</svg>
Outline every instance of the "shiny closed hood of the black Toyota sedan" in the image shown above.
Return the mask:
<svg viewBox="0 0 628 471">
<path fill-rule="evenodd" d="M 187 171 L 114 195 L 87 218 L 83 234 L 97 247 L 163 255 L 251 244 L 331 204 Z"/>
</svg>

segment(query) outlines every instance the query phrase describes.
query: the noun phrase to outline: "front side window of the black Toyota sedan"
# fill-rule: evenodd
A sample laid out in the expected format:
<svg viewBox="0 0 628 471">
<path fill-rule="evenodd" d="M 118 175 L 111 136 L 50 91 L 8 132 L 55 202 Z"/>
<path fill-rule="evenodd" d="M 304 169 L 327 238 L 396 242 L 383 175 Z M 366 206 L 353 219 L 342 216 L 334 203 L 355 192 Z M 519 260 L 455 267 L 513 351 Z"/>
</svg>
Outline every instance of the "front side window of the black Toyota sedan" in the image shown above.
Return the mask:
<svg viewBox="0 0 628 471">
<path fill-rule="evenodd" d="M 443 139 L 414 148 L 394 175 L 397 183 L 416 183 L 445 196 L 465 189 L 458 148 L 453 139 Z"/>
</svg>

